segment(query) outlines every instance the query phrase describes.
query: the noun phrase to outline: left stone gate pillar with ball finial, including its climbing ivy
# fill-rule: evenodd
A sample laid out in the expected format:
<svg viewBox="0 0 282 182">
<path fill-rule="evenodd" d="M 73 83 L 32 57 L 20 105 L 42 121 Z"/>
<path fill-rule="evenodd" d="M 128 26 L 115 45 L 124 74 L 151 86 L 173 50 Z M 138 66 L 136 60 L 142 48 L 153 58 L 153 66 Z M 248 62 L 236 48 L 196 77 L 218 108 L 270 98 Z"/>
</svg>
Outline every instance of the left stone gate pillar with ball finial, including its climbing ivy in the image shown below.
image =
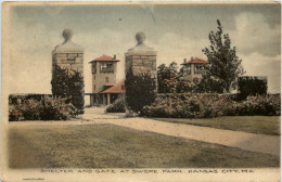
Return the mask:
<svg viewBox="0 0 282 182">
<path fill-rule="evenodd" d="M 73 31 L 65 29 L 63 31 L 65 41 L 54 48 L 52 51 L 52 93 L 57 96 L 69 96 L 72 104 L 78 109 L 78 114 L 84 113 L 85 90 L 84 90 L 84 49 L 72 41 Z M 67 69 L 67 77 L 74 78 L 70 81 L 56 66 Z M 79 73 L 79 75 L 75 74 Z M 65 84 L 60 80 L 64 78 Z"/>
</svg>

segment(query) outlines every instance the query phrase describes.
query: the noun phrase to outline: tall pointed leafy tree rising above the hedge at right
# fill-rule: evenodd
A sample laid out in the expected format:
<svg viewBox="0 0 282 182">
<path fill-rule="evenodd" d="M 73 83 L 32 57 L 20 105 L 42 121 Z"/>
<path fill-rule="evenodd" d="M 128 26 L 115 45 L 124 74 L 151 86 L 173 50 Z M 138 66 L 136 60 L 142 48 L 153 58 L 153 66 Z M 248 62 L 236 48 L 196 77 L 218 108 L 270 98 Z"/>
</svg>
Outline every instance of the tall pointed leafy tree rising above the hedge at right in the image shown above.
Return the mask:
<svg viewBox="0 0 282 182">
<path fill-rule="evenodd" d="M 230 92 L 231 86 L 236 78 L 245 72 L 241 65 L 242 60 L 236 56 L 235 47 L 231 47 L 231 40 L 228 34 L 223 34 L 220 21 L 217 20 L 218 30 L 210 31 L 208 38 L 210 47 L 202 51 L 207 56 L 209 64 L 205 67 L 207 69 L 204 78 L 215 79 L 222 82 L 222 89 Z"/>
</svg>

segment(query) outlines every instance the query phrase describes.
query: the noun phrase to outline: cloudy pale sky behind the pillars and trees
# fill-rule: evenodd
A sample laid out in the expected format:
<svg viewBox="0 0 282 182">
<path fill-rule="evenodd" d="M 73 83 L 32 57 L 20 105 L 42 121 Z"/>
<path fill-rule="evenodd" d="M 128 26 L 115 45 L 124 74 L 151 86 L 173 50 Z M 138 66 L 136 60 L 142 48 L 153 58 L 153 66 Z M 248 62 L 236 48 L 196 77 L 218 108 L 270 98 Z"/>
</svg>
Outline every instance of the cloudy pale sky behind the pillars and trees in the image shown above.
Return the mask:
<svg viewBox="0 0 282 182">
<path fill-rule="evenodd" d="M 242 58 L 245 75 L 267 76 L 268 91 L 281 88 L 281 8 L 272 4 L 80 4 L 13 5 L 9 26 L 9 93 L 51 93 L 51 52 L 70 28 L 85 49 L 86 92 L 91 92 L 89 62 L 102 54 L 120 60 L 117 79 L 125 77 L 125 53 L 143 31 L 145 44 L 157 51 L 157 65 L 178 65 L 191 56 L 206 58 L 208 34 L 223 32 Z M 5 26 L 5 25 L 3 25 Z M 5 44 L 2 44 L 3 47 Z M 5 63 L 7 64 L 7 63 Z"/>
</svg>

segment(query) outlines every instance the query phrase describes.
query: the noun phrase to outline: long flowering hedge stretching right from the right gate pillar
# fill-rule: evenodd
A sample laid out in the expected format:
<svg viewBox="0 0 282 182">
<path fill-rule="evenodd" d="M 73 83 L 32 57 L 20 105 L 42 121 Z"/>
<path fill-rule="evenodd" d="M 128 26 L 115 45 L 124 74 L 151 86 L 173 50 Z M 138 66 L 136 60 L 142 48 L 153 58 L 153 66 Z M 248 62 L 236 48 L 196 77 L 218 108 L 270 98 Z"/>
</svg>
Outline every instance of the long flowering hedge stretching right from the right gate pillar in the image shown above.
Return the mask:
<svg viewBox="0 0 282 182">
<path fill-rule="evenodd" d="M 168 118 L 211 118 L 219 116 L 279 116 L 280 96 L 249 96 L 246 101 L 235 102 L 218 94 L 174 94 L 158 96 L 144 106 L 141 115 Z"/>
</svg>

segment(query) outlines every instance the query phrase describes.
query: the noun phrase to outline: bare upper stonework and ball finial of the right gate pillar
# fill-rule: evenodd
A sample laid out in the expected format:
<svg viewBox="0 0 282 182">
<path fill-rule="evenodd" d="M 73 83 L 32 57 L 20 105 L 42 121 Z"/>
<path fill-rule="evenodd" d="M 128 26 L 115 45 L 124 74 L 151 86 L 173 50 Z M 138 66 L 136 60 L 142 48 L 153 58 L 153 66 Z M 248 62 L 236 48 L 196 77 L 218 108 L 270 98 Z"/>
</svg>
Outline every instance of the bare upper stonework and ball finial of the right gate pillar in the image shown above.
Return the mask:
<svg viewBox="0 0 282 182">
<path fill-rule="evenodd" d="M 144 32 L 138 32 L 136 39 L 137 46 L 125 54 L 126 73 L 131 67 L 133 75 L 150 73 L 153 78 L 156 78 L 156 51 L 144 44 Z"/>
</svg>

